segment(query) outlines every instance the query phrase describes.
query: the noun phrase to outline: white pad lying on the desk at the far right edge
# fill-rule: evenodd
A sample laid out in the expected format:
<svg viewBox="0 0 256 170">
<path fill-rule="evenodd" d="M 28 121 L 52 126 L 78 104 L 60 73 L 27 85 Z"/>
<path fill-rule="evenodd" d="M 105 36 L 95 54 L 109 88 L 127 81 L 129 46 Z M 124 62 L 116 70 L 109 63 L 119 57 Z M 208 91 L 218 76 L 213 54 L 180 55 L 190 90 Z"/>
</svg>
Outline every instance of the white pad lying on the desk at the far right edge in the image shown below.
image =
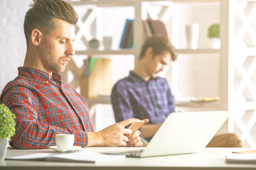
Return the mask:
<svg viewBox="0 0 256 170">
<path fill-rule="evenodd" d="M 247 154 L 226 154 L 227 162 L 245 162 L 245 163 L 256 163 L 256 153 Z"/>
</svg>

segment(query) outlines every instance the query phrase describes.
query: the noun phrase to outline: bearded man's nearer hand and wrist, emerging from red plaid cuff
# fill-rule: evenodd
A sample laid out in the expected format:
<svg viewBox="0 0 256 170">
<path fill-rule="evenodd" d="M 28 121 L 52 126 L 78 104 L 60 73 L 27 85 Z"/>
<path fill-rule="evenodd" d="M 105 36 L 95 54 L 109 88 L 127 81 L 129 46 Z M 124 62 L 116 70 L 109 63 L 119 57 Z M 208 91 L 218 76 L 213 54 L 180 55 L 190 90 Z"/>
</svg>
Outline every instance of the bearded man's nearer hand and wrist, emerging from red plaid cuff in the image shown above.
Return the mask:
<svg viewBox="0 0 256 170">
<path fill-rule="evenodd" d="M 132 130 L 125 128 L 131 123 L 137 123 L 142 120 L 137 118 L 130 118 L 123 120 L 122 122 L 115 123 L 109 127 L 101 130 L 100 132 L 87 132 L 88 135 L 88 145 L 92 146 L 104 146 L 104 147 L 125 147 L 127 142 L 131 146 L 142 146 L 139 134 L 137 131 L 132 135 Z M 149 120 L 145 120 L 147 123 Z M 128 141 L 129 140 L 129 141 Z"/>
</svg>

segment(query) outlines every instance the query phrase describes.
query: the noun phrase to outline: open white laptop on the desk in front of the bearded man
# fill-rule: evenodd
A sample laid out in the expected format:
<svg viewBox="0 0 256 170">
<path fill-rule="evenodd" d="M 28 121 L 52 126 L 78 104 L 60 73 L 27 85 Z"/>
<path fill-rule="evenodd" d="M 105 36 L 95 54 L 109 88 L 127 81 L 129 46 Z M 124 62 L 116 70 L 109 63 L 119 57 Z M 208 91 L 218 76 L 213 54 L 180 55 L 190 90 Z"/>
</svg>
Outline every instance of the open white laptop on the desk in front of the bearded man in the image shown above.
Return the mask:
<svg viewBox="0 0 256 170">
<path fill-rule="evenodd" d="M 227 120 L 228 115 L 228 111 L 171 113 L 146 147 L 103 153 L 155 157 L 200 152 Z"/>
</svg>

